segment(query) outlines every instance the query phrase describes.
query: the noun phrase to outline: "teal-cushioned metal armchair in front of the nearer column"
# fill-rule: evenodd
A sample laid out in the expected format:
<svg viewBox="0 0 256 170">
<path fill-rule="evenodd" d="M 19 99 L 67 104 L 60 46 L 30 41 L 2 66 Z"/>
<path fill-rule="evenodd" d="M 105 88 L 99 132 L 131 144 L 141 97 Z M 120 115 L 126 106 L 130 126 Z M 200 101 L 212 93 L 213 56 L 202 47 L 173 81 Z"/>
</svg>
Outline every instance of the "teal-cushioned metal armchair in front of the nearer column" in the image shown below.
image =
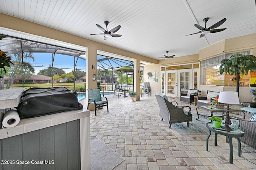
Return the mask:
<svg viewBox="0 0 256 170">
<path fill-rule="evenodd" d="M 107 106 L 108 109 L 108 99 L 106 97 L 101 96 L 100 89 L 88 89 L 89 99 L 88 99 L 88 105 L 87 109 L 89 108 L 89 105 L 94 105 L 95 115 L 96 114 L 96 108 L 101 108 L 104 106 Z M 102 100 L 102 98 L 105 98 L 106 100 Z"/>
</svg>

